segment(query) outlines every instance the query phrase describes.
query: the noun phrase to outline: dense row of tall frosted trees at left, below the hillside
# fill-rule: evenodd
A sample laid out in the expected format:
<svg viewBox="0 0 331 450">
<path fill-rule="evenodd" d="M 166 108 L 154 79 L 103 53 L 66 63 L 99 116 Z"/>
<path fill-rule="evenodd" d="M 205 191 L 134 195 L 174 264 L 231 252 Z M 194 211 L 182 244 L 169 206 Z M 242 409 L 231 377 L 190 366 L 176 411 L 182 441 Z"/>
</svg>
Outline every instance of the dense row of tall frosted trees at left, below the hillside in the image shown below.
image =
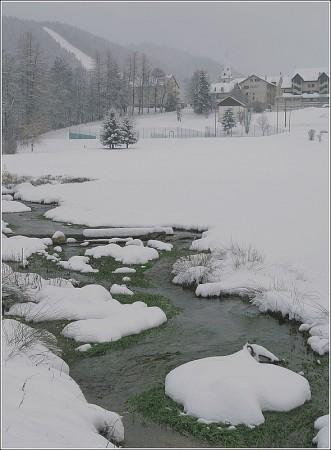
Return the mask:
<svg viewBox="0 0 331 450">
<path fill-rule="evenodd" d="M 40 41 L 28 31 L 16 52 L 2 58 L 3 153 L 14 153 L 18 143 L 33 151 L 42 133 L 102 120 L 111 108 L 120 116 L 140 114 L 144 107 L 148 112 L 176 110 L 178 99 L 167 92 L 163 77 L 162 69 L 151 68 L 138 52 L 122 68 L 110 50 L 95 53 L 90 71 L 73 67 L 64 57 L 50 64 Z"/>
</svg>

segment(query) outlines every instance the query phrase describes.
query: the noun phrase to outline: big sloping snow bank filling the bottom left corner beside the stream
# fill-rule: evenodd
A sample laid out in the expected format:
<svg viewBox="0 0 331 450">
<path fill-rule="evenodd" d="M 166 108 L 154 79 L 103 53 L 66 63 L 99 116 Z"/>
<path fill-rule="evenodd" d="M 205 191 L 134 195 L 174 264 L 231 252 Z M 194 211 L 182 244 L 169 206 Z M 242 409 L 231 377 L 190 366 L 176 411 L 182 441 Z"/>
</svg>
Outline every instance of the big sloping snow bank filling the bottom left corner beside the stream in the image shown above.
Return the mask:
<svg viewBox="0 0 331 450">
<path fill-rule="evenodd" d="M 25 349 L 19 346 L 16 337 L 28 339 L 32 328 L 9 319 L 2 327 L 4 448 L 114 447 L 98 434 L 106 428 L 108 439 L 124 440 L 121 417 L 88 403 L 61 358 L 34 340 Z"/>
</svg>

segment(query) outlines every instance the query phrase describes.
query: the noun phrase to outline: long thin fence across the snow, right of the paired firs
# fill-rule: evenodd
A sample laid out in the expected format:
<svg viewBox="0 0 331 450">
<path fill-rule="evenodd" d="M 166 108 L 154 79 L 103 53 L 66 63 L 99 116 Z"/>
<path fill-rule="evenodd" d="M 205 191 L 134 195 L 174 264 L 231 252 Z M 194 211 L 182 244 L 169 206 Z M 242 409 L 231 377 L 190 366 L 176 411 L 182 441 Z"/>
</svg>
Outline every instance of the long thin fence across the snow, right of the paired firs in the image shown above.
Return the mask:
<svg viewBox="0 0 331 450">
<path fill-rule="evenodd" d="M 263 133 L 260 127 L 252 125 L 249 132 L 246 133 L 242 126 L 232 128 L 228 134 L 217 127 L 206 127 L 205 131 L 192 130 L 190 128 L 182 127 L 144 127 L 138 130 L 138 137 L 140 139 L 190 139 L 190 138 L 212 138 L 212 137 L 258 137 L 271 136 L 274 134 L 285 133 L 287 130 L 283 128 L 269 126 Z"/>
</svg>

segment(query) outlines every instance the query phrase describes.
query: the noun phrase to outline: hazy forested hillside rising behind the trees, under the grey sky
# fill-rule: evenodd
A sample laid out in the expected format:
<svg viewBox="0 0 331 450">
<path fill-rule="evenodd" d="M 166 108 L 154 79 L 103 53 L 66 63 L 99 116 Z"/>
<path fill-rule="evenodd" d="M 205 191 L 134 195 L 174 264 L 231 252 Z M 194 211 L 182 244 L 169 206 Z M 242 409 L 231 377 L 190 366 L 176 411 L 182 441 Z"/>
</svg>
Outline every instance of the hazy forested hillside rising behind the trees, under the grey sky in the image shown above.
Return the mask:
<svg viewBox="0 0 331 450">
<path fill-rule="evenodd" d="M 145 53 L 150 61 L 152 69 L 160 67 L 164 72 L 174 74 L 181 87 L 183 86 L 185 78 L 190 78 L 194 71 L 201 68 L 207 71 L 210 81 L 215 82 L 217 81 L 222 68 L 221 62 L 217 62 L 211 58 L 194 56 L 187 52 L 166 46 L 151 43 L 124 46 L 95 36 L 78 27 L 60 22 L 36 22 L 6 16 L 3 16 L 2 18 L 3 51 L 6 53 L 14 53 L 20 35 L 31 30 L 42 43 L 42 48 L 45 55 L 47 55 L 50 64 L 52 64 L 56 56 L 62 56 L 70 63 L 70 65 L 79 65 L 80 62 L 72 54 L 61 48 L 61 46 L 43 30 L 44 26 L 60 34 L 71 45 L 75 46 L 91 58 L 95 57 L 96 52 L 103 53 L 105 50 L 110 49 L 121 69 L 124 68 L 128 57 L 133 51 L 137 51 L 140 54 Z M 222 54 L 222 49 L 220 49 L 220 54 Z"/>
</svg>

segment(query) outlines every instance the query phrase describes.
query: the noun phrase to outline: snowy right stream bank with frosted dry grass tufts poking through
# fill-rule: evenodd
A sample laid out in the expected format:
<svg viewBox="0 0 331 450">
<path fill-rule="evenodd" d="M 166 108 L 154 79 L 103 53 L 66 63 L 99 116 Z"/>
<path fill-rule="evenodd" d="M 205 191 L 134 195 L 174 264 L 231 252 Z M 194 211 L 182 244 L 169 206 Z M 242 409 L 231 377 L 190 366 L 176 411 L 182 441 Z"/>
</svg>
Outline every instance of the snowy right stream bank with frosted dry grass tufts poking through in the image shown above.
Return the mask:
<svg viewBox="0 0 331 450">
<path fill-rule="evenodd" d="M 201 249 L 203 239 L 194 241 L 191 248 Z M 319 292 L 318 279 L 309 278 L 300 266 L 266 263 L 253 246 L 234 242 L 222 246 L 215 241 L 210 253 L 177 260 L 172 273 L 175 284 L 197 284 L 198 297 L 248 296 L 261 312 L 300 321 L 300 331 L 309 330 L 311 348 L 320 355 L 329 351 L 327 297 Z"/>
</svg>

